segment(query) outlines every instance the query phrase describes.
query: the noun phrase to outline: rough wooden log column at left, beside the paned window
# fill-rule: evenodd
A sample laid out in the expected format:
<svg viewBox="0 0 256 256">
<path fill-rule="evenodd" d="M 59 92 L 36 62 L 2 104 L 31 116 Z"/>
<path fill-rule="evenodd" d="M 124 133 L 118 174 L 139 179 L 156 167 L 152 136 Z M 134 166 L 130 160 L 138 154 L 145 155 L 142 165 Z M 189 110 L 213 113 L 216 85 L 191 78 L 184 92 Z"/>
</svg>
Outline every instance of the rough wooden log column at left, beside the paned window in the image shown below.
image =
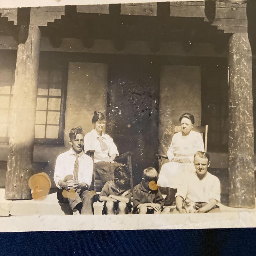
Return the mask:
<svg viewBox="0 0 256 256">
<path fill-rule="evenodd" d="M 28 180 L 33 161 L 40 35 L 38 26 L 28 25 L 26 42 L 18 45 L 5 184 L 8 199 L 31 198 Z"/>
</svg>

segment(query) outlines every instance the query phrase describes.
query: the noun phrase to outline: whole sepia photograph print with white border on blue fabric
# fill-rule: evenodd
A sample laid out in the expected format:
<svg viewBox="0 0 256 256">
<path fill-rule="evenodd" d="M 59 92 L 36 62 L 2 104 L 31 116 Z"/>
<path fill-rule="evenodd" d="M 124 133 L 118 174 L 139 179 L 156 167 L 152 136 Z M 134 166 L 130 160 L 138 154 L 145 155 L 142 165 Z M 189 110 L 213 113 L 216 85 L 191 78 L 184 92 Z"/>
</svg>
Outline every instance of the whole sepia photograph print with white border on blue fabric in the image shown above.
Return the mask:
<svg viewBox="0 0 256 256">
<path fill-rule="evenodd" d="M 0 231 L 256 226 L 254 1 L 6 6 Z"/>
</svg>

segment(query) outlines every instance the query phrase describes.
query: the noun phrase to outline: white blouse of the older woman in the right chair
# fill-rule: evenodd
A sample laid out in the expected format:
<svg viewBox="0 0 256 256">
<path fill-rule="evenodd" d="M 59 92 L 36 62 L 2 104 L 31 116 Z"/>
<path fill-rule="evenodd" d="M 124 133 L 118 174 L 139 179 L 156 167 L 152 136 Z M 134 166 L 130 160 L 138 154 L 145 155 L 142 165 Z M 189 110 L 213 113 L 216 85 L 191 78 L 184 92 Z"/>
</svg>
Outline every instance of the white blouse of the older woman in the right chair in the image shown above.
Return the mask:
<svg viewBox="0 0 256 256">
<path fill-rule="evenodd" d="M 197 151 L 205 151 L 204 141 L 200 133 L 190 131 L 186 136 L 182 132 L 173 135 L 172 143 L 167 151 L 169 161 L 174 157 L 181 159 L 189 158 L 190 162 L 194 161 L 194 154 Z"/>
</svg>

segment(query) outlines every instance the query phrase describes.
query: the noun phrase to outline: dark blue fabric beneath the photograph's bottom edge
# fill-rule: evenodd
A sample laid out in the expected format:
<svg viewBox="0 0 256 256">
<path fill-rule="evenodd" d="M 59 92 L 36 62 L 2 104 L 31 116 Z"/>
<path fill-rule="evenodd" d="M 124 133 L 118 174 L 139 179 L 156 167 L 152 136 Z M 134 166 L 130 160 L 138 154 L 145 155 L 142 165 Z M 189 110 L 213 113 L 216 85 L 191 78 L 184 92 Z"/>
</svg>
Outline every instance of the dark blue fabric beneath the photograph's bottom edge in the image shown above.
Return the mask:
<svg viewBox="0 0 256 256">
<path fill-rule="evenodd" d="M 256 229 L 19 232 L 0 255 L 256 255 Z"/>
</svg>

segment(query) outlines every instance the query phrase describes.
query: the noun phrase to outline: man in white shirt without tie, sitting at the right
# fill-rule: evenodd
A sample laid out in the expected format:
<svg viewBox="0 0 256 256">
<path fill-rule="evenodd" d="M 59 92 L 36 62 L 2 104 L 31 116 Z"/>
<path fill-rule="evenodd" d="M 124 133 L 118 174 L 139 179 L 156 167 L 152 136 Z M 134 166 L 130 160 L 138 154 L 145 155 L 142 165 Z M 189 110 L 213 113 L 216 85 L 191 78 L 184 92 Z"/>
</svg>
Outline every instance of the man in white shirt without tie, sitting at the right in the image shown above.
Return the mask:
<svg viewBox="0 0 256 256">
<path fill-rule="evenodd" d="M 195 205 L 195 212 L 219 212 L 216 206 L 220 202 L 220 181 L 207 172 L 210 166 L 209 154 L 197 151 L 194 156 L 196 171 L 184 178 L 175 195 L 176 209 L 179 213 L 186 213 L 184 201 Z"/>
</svg>

